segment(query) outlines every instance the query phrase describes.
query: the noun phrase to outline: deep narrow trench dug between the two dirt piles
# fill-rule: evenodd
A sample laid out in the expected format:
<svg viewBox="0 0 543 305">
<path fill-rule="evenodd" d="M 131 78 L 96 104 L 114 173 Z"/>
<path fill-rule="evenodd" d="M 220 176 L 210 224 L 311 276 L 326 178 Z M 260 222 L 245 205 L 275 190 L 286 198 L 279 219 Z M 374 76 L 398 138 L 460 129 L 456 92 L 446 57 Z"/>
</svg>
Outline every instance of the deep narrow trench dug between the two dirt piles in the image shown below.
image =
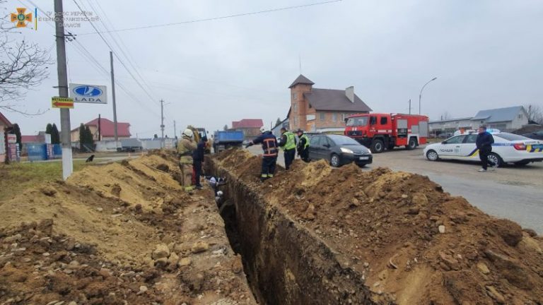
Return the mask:
<svg viewBox="0 0 543 305">
<path fill-rule="evenodd" d="M 209 161 L 207 172 L 228 181 L 221 216 L 259 304 L 375 304 L 349 260 Z"/>
</svg>

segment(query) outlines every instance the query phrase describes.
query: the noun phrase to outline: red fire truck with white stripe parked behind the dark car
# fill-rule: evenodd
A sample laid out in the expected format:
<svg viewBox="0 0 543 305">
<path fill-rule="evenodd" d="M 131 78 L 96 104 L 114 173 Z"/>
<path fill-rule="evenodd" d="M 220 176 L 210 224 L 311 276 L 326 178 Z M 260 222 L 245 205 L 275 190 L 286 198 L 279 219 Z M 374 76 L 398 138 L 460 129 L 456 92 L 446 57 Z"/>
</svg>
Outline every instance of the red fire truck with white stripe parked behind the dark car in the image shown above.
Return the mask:
<svg viewBox="0 0 543 305">
<path fill-rule="evenodd" d="M 416 114 L 355 114 L 346 118 L 345 136 L 354 138 L 374 153 L 426 144 L 428 116 Z"/>
</svg>

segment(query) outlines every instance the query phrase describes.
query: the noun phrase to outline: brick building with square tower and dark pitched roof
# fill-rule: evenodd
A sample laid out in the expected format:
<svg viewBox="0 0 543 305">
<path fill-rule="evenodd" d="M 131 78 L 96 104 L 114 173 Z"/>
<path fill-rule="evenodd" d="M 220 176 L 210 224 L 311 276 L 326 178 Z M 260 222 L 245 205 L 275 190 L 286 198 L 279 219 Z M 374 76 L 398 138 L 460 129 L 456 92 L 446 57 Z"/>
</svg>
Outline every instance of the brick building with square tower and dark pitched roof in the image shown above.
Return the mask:
<svg viewBox="0 0 543 305">
<path fill-rule="evenodd" d="M 351 114 L 368 113 L 370 107 L 354 94 L 354 87 L 345 90 L 313 88 L 313 81 L 301 75 L 288 86 L 291 108 L 288 120 L 291 130 L 308 132 L 341 129 Z"/>
</svg>

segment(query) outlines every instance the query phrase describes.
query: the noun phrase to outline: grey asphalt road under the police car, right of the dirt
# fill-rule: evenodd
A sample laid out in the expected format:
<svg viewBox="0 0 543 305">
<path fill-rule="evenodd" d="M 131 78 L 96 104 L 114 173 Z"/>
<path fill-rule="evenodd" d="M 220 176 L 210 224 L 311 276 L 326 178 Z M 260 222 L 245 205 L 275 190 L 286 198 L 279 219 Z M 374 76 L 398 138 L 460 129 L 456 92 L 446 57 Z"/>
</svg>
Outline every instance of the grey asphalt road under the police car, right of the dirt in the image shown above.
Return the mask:
<svg viewBox="0 0 543 305">
<path fill-rule="evenodd" d="M 255 154 L 259 147 L 249 148 Z M 416 150 L 392 150 L 373 155 L 375 167 L 428 176 L 453 196 L 462 196 L 489 215 L 518 222 L 522 227 L 543 234 L 543 163 L 525 167 L 508 166 L 495 172 L 477 172 L 479 165 L 472 162 L 430 162 Z M 284 165 L 279 156 L 278 163 Z"/>
</svg>

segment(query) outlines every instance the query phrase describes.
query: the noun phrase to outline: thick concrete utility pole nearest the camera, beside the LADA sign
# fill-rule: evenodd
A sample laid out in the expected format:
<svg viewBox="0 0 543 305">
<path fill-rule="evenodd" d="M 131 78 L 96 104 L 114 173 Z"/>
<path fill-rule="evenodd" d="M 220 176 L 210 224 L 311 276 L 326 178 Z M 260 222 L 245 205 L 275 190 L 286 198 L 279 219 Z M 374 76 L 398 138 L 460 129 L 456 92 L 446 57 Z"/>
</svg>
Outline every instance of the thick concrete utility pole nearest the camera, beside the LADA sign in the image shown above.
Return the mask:
<svg viewBox="0 0 543 305">
<path fill-rule="evenodd" d="M 66 42 L 64 40 L 64 17 L 62 0 L 54 0 L 54 29 L 57 40 L 57 73 L 59 77 L 59 97 L 68 97 L 68 73 L 66 72 Z M 70 109 L 60 109 L 60 133 L 62 135 L 62 179 L 66 180 L 74 172 L 71 158 Z"/>
</svg>

